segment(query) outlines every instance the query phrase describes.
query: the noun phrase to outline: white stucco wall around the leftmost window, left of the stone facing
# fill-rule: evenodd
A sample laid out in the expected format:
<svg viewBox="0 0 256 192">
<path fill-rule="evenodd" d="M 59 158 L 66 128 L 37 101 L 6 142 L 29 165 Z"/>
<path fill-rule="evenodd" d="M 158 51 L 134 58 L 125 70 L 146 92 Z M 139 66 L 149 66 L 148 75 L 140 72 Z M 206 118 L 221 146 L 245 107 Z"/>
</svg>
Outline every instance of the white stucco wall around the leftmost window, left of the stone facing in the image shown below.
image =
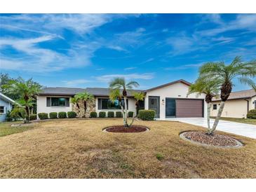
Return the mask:
<svg viewBox="0 0 256 192">
<path fill-rule="evenodd" d="M 49 114 L 50 112 L 60 112 L 60 111 L 65 111 L 65 112 L 72 111 L 72 104 L 70 102 L 71 97 L 69 97 L 69 107 L 46 107 L 46 97 L 69 97 L 69 96 L 51 96 L 51 95 L 37 96 L 37 100 L 36 100 L 37 114 L 39 114 L 39 113 L 48 113 Z"/>
</svg>

